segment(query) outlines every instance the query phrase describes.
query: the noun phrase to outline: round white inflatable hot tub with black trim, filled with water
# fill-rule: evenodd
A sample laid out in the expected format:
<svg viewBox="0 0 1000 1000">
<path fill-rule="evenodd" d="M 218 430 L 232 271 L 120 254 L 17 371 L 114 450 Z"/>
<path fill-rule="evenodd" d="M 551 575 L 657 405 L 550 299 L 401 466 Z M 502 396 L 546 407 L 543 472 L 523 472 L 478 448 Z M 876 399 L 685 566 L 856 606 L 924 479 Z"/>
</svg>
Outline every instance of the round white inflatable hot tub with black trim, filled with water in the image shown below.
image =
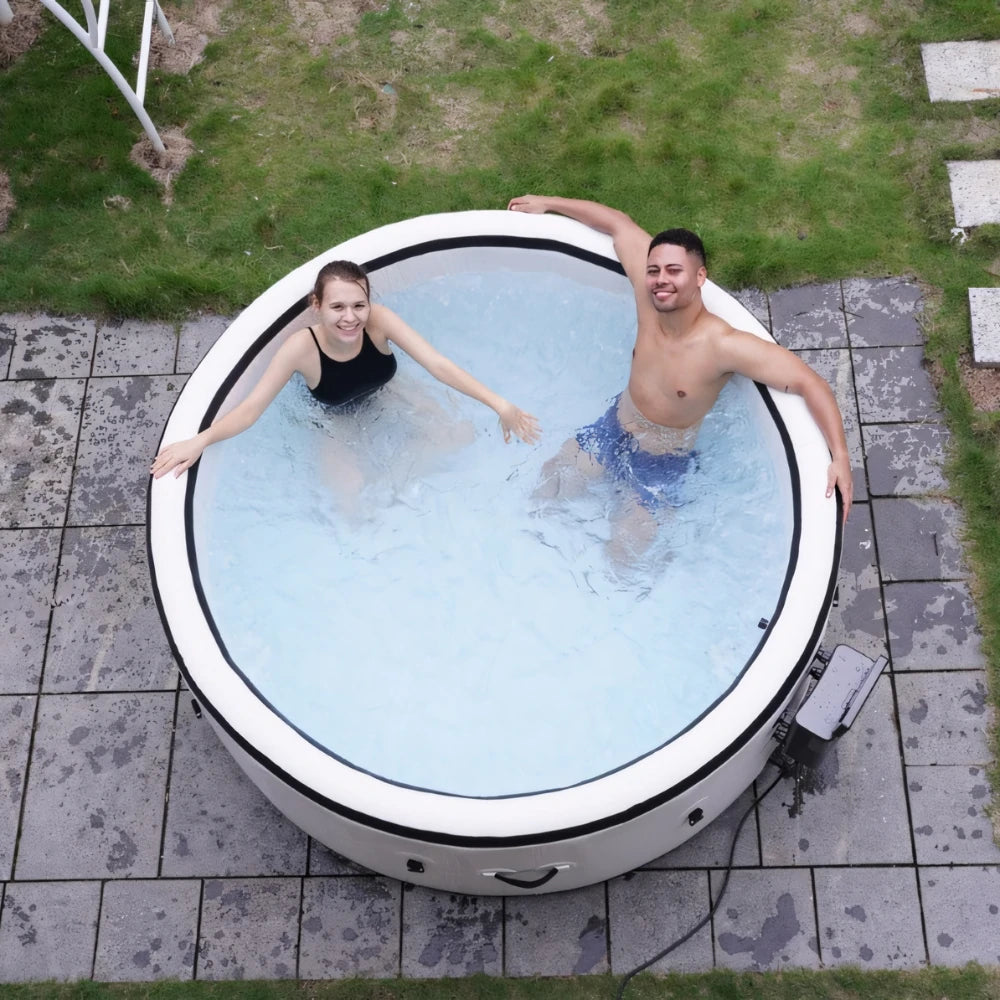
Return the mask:
<svg viewBox="0 0 1000 1000">
<path fill-rule="evenodd" d="M 543 440 L 504 446 L 488 410 L 400 355 L 359 407 L 293 380 L 250 431 L 151 481 L 154 592 L 195 698 L 285 815 L 388 875 L 553 891 L 671 850 L 763 768 L 819 644 L 840 547 L 822 435 L 800 398 L 733 379 L 663 504 L 613 477 L 554 488 L 563 441 L 627 380 L 632 291 L 584 226 L 464 212 L 268 289 L 164 441 L 246 396 L 334 259 Z M 767 337 L 711 282 L 704 297 Z"/>
</svg>

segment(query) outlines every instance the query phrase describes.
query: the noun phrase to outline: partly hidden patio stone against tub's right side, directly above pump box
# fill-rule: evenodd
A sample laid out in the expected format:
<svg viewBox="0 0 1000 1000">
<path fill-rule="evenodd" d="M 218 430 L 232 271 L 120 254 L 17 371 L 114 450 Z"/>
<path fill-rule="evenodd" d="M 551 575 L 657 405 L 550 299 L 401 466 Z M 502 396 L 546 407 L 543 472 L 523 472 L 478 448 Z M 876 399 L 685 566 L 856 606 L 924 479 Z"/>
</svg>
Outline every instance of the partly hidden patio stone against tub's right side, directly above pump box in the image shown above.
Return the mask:
<svg viewBox="0 0 1000 1000">
<path fill-rule="evenodd" d="M 868 504 L 851 508 L 844 527 L 837 586 L 837 606 L 830 609 L 823 646 L 832 650 L 838 643 L 846 643 L 872 659 L 885 655 L 885 613 Z"/>
</svg>

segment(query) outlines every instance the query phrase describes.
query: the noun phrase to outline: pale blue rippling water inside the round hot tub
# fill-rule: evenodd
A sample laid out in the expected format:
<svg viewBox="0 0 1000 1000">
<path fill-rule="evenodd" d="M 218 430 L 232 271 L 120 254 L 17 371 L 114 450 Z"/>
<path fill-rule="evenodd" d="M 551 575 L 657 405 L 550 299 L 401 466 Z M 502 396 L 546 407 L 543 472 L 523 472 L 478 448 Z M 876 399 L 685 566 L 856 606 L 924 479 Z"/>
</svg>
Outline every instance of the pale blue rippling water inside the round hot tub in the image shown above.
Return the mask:
<svg viewBox="0 0 1000 1000">
<path fill-rule="evenodd" d="M 492 411 L 398 350 L 351 413 L 296 377 L 202 459 L 199 569 L 233 662 L 332 754 L 421 788 L 559 788 L 661 746 L 733 683 L 786 572 L 787 473 L 756 390 L 726 387 L 679 505 L 623 563 L 619 484 L 537 489 L 627 381 L 628 286 L 463 274 L 381 301 L 535 413 L 541 442 L 505 445 Z"/>
</svg>

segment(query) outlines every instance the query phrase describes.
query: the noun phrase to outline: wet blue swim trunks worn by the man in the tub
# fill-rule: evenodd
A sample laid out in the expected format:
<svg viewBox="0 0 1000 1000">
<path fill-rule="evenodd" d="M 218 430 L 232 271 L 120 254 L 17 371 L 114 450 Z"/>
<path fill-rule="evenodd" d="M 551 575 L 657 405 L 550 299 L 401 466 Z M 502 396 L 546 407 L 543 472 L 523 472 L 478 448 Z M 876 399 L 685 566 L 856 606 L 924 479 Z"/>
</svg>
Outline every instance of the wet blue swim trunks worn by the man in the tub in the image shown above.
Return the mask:
<svg viewBox="0 0 1000 1000">
<path fill-rule="evenodd" d="M 602 417 L 577 432 L 576 443 L 608 475 L 632 489 L 647 510 L 682 506 L 686 501 L 681 495 L 681 483 L 697 465 L 697 452 L 654 455 L 641 450 L 618 420 L 619 398 L 615 397 Z"/>
</svg>

